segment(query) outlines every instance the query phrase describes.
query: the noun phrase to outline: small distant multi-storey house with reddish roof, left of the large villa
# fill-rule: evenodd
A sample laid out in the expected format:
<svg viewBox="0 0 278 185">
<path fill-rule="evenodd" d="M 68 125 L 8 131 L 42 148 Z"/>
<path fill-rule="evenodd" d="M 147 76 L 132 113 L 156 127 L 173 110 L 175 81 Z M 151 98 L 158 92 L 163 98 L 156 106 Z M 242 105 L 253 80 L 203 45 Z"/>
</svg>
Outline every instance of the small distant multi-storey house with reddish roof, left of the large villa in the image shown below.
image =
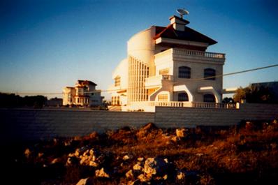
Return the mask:
<svg viewBox="0 0 278 185">
<path fill-rule="evenodd" d="M 65 87 L 63 90 L 63 105 L 98 106 L 103 105 L 101 91 L 96 90 L 96 84 L 89 80 L 78 80 L 75 87 Z"/>
</svg>

